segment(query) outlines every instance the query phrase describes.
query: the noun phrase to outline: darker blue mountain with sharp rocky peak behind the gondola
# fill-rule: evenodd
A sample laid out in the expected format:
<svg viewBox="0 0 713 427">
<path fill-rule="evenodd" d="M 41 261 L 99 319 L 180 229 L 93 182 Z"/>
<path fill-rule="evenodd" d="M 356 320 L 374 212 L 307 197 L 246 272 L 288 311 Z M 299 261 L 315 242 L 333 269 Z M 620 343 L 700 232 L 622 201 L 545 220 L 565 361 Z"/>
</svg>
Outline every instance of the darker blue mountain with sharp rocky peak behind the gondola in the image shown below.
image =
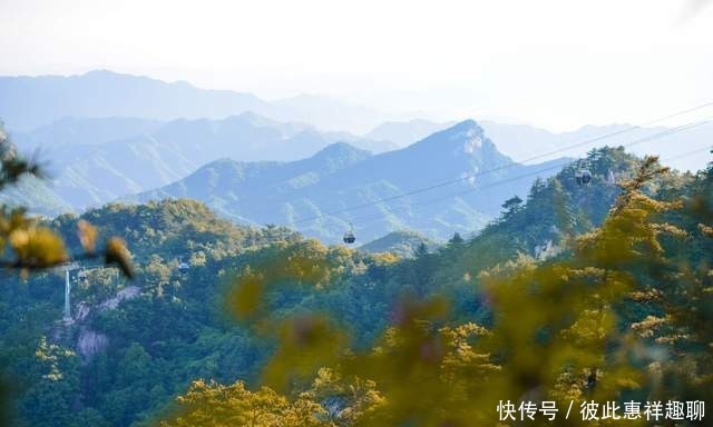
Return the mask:
<svg viewBox="0 0 713 427">
<path fill-rule="evenodd" d="M 340 240 L 350 222 L 361 241 L 404 229 L 445 239 L 480 229 L 505 199 L 567 162 L 515 163 L 467 120 L 380 155 L 340 142 L 292 162 L 222 159 L 126 200 L 196 199 L 240 222 L 286 225 L 324 241 Z"/>
</svg>

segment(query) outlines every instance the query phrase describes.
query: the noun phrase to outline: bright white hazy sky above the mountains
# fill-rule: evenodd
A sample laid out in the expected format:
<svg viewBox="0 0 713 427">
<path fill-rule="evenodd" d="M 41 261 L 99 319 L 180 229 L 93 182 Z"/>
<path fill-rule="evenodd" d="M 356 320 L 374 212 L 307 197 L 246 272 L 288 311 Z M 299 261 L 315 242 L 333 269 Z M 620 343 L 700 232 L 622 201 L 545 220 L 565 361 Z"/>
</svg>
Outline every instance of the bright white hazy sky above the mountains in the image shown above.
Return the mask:
<svg viewBox="0 0 713 427">
<path fill-rule="evenodd" d="M 0 0 L 0 73 L 105 68 L 561 130 L 713 100 L 707 3 Z"/>
</svg>

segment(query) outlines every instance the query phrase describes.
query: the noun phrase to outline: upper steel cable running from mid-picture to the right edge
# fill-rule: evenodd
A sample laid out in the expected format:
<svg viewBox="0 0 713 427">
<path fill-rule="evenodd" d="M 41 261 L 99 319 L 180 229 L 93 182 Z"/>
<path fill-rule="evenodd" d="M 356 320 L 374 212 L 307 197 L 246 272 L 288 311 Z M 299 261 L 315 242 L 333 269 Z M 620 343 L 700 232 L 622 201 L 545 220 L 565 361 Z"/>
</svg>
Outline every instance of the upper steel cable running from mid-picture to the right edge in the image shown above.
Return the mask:
<svg viewBox="0 0 713 427">
<path fill-rule="evenodd" d="M 351 207 L 346 207 L 346 208 L 342 208 L 342 209 L 338 209 L 338 210 L 332 210 L 332 211 L 324 212 L 324 214 L 314 215 L 314 216 L 311 216 L 311 217 L 299 219 L 296 221 L 293 221 L 292 224 L 293 225 L 297 225 L 297 224 L 303 224 L 303 222 L 312 221 L 312 220 L 315 220 L 315 219 L 320 219 L 320 218 L 323 218 L 323 217 L 334 217 L 336 215 L 349 212 L 349 211 L 352 211 L 352 210 L 363 209 L 363 208 L 372 206 L 372 205 L 378 205 L 378 203 L 382 203 L 382 202 L 385 202 L 385 201 L 391 201 L 391 200 L 400 199 L 400 198 L 403 198 L 403 197 L 413 196 L 413 195 L 418 195 L 418 193 L 421 193 L 421 192 L 434 190 L 437 188 L 447 187 L 447 186 L 450 186 L 450 185 L 453 185 L 453 183 L 467 181 L 467 180 L 477 178 L 477 177 L 486 175 L 486 173 L 492 173 L 492 172 L 500 171 L 500 170 L 504 170 L 504 169 L 507 169 L 507 168 L 511 168 L 511 167 L 515 167 L 515 166 L 521 166 L 522 163 L 527 163 L 528 161 L 539 160 L 539 159 L 543 159 L 545 157 L 549 157 L 549 156 L 553 156 L 553 155 L 557 155 L 557 153 L 560 153 L 560 152 L 564 152 L 564 151 L 572 150 L 574 148 L 579 148 L 579 147 L 583 147 L 583 146 L 586 146 L 586 145 L 589 145 L 589 143 L 593 143 L 593 142 L 597 142 L 597 141 L 600 141 L 600 140 L 604 140 L 604 139 L 607 139 L 607 138 L 612 138 L 612 137 L 615 137 L 615 136 L 619 136 L 619 135 L 624 135 L 624 133 L 627 133 L 627 132 L 632 132 L 634 130 L 642 129 L 642 128 L 644 128 L 646 126 L 651 126 L 651 125 L 654 125 L 654 123 L 657 123 L 657 122 L 661 122 L 661 121 L 664 121 L 664 120 L 668 120 L 668 119 L 672 119 L 674 117 L 683 116 L 683 115 L 686 115 L 688 112 L 693 112 L 693 111 L 696 111 L 696 110 L 700 110 L 700 109 L 703 109 L 703 108 L 706 108 L 706 107 L 710 107 L 710 106 L 713 106 L 713 101 L 705 102 L 705 103 L 702 103 L 702 105 L 699 105 L 696 107 L 688 108 L 688 109 L 685 109 L 685 110 L 682 110 L 682 111 L 677 111 L 677 112 L 674 112 L 674 113 L 671 113 L 668 116 L 661 117 L 661 118 L 657 118 L 657 119 L 654 119 L 654 120 L 649 120 L 649 121 L 641 123 L 641 125 L 631 126 L 628 128 L 619 129 L 619 130 L 614 131 L 614 132 L 600 135 L 600 136 L 595 137 L 595 138 L 589 138 L 589 139 L 586 139 L 586 140 L 569 145 L 569 146 L 563 147 L 563 148 L 557 149 L 557 150 L 553 150 L 553 151 L 549 151 L 549 152 L 540 153 L 540 155 L 537 155 L 537 156 L 534 156 L 534 157 L 530 157 L 530 158 L 527 158 L 527 159 L 524 159 L 524 160 L 519 160 L 518 162 L 512 162 L 512 163 L 504 165 L 504 166 L 500 166 L 500 167 L 497 167 L 497 168 L 482 170 L 482 171 L 479 171 L 479 172 L 476 172 L 476 173 L 471 173 L 471 175 L 468 175 L 468 176 L 465 176 L 465 177 L 460 177 L 460 178 L 457 178 L 457 179 L 442 181 L 442 182 L 439 182 L 439 183 L 436 183 L 436 185 L 432 185 L 432 186 L 418 188 L 418 189 L 414 189 L 414 190 L 411 190 L 411 191 L 401 192 L 401 193 L 398 193 L 398 195 L 384 197 L 384 198 L 372 200 L 372 201 L 368 201 L 368 202 L 364 202 L 364 203 L 354 205 L 354 206 L 351 206 Z M 677 131 L 681 127 L 666 129 L 666 130 L 664 130 L 662 132 L 658 132 L 658 133 L 668 135 L 668 133 Z M 655 135 L 658 135 L 658 133 L 655 133 Z"/>
</svg>

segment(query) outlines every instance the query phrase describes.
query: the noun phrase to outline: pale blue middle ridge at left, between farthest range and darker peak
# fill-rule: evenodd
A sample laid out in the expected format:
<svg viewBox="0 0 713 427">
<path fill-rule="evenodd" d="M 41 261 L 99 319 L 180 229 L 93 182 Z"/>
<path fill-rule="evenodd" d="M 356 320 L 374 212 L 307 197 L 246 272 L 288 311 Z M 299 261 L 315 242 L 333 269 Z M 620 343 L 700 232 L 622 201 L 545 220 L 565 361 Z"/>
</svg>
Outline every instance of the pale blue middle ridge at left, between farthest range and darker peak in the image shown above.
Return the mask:
<svg viewBox="0 0 713 427">
<path fill-rule="evenodd" d="M 20 151 L 51 159 L 52 191 L 79 210 L 165 186 L 221 158 L 290 161 L 338 141 L 370 150 L 393 147 L 252 112 L 223 120 L 169 122 L 67 118 L 29 132 L 13 132 L 12 138 Z"/>
</svg>

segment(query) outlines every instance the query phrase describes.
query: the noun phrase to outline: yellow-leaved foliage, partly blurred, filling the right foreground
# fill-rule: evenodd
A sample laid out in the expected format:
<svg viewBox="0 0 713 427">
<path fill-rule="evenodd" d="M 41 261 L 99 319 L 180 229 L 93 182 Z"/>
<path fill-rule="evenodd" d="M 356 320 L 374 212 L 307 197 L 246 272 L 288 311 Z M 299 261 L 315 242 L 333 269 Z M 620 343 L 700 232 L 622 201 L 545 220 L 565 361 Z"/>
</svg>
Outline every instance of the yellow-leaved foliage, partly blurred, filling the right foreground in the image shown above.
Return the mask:
<svg viewBox="0 0 713 427">
<path fill-rule="evenodd" d="M 605 222 L 570 239 L 557 258 L 482 271 L 478 292 L 492 314 L 488 325 L 453 320 L 442 296 L 404 299 L 371 348 L 352 348 L 329 316 L 274 316 L 265 308 L 266 289 L 287 278 L 324 286 L 333 271 L 326 260 L 295 254 L 255 266 L 238 277 L 228 304 L 276 342 L 261 388 L 195 383 L 163 425 L 289 426 L 295 413 L 284 408 L 293 406 L 304 409 L 300 425 L 498 425 L 502 401 L 515 408 L 553 401 L 561 411 L 573 403 L 578 414 L 590 401 L 712 396 L 710 178 L 686 200 L 647 197 L 647 182 L 665 173 L 646 158 Z M 684 259 L 680 245 L 700 251 Z M 272 399 L 260 423 L 246 418 L 257 396 Z M 560 416 L 531 424 L 616 423 Z"/>
</svg>

